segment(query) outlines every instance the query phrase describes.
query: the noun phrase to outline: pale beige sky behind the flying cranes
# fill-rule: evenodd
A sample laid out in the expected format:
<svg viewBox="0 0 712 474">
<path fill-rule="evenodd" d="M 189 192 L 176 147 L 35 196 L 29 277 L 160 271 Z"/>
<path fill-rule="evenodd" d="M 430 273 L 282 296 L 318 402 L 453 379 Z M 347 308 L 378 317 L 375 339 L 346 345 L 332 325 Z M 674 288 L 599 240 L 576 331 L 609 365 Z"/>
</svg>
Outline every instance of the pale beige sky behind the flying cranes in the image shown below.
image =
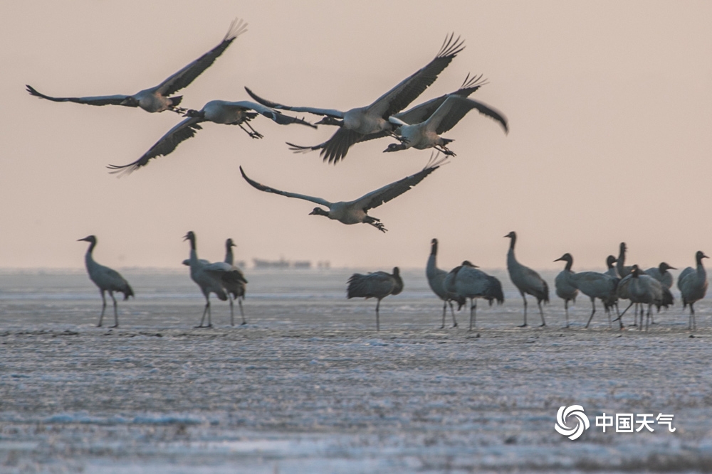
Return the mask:
<svg viewBox="0 0 712 474">
<path fill-rule="evenodd" d="M 288 104 L 370 104 L 425 65 L 447 33 L 466 49 L 414 102 L 455 90 L 501 110 L 510 133 L 469 114 L 446 134 L 458 156 L 370 211 L 389 229 L 310 216 L 313 205 L 250 188 L 239 166 L 276 188 L 350 200 L 422 168 L 428 151 L 360 144 L 338 166 L 285 141 L 318 144 L 335 129 L 278 126 L 265 137 L 205 124 L 150 166 L 117 179 L 179 121 L 169 112 L 30 97 L 132 94 L 214 47 L 232 18 L 248 32 L 182 90 L 182 105 L 258 94 Z M 85 242 L 109 266 L 176 267 L 182 236 L 201 258 L 330 260 L 388 269 L 470 259 L 601 267 L 619 242 L 629 262 L 693 264 L 712 252 L 712 3 L 708 1 L 66 1 L 0 4 L 0 267 L 80 267 Z M 310 117 L 313 121 L 318 120 Z"/>
</svg>

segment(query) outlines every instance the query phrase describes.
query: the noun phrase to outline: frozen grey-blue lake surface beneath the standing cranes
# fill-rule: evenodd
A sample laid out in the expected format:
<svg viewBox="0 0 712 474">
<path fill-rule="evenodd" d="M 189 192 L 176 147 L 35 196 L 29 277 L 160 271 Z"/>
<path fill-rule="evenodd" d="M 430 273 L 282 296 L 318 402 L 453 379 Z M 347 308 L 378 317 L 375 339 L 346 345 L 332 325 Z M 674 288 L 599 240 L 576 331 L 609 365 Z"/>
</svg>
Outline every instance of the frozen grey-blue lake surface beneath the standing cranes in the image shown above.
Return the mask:
<svg viewBox="0 0 712 474">
<path fill-rule="evenodd" d="M 709 299 L 694 337 L 679 301 L 648 332 L 611 330 L 602 311 L 585 330 L 584 297 L 562 329 L 553 290 L 548 326 L 516 328 L 500 271 L 505 304 L 480 302 L 468 332 L 468 311 L 440 328 L 424 270 L 407 270 L 377 333 L 375 301 L 345 298 L 351 273 L 248 271 L 248 324 L 211 298 L 215 327 L 195 329 L 187 271 L 127 269 L 137 299 L 109 329 L 83 271 L 0 272 L 0 472 L 712 470 Z M 577 441 L 554 429 L 573 404 L 590 420 Z M 603 412 L 674 414 L 676 431 L 603 433 Z"/>
</svg>

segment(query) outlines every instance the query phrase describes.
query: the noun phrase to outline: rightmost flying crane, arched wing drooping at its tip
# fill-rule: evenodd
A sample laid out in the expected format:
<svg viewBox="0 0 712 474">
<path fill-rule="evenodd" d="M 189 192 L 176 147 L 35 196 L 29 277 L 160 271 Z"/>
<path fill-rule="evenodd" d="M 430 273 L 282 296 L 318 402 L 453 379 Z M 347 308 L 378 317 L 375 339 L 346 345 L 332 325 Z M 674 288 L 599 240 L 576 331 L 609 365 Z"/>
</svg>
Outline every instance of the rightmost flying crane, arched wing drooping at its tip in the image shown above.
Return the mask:
<svg viewBox="0 0 712 474">
<path fill-rule="evenodd" d="M 507 119 L 501 112 L 468 97 L 451 95 L 438 107 L 434 114 L 431 114 L 423 122 L 409 124 L 401 121 L 397 129 L 399 135 L 396 137 L 400 143 L 390 144 L 384 152 L 407 150 L 409 148 L 417 150 L 434 148 L 446 155 L 454 156 L 455 153 L 447 148 L 447 145 L 452 140 L 445 139 L 440 134 L 444 134 L 456 126 L 472 109 L 476 109 L 486 117 L 495 119 L 501 124 L 505 132 L 508 131 Z M 393 119 L 395 118 L 392 117 Z"/>
</svg>

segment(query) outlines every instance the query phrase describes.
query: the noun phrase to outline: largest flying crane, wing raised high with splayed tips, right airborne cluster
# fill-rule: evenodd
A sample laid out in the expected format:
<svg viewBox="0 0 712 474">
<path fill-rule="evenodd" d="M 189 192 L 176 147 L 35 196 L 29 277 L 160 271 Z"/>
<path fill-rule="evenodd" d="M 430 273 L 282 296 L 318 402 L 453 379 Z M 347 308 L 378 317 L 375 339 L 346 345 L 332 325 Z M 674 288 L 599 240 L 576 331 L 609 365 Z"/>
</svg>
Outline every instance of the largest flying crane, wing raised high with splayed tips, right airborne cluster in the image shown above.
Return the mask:
<svg viewBox="0 0 712 474">
<path fill-rule="evenodd" d="M 324 116 L 317 124 L 336 125 L 339 129 L 326 142 L 321 151 L 324 161 L 338 163 L 346 156 L 349 148 L 362 141 L 364 136 L 381 132 L 392 132 L 398 123 L 391 120 L 392 115 L 408 107 L 427 87 L 437 79 L 442 72 L 464 49 L 460 38 L 454 39 L 451 34 L 445 38 L 438 54 L 424 68 L 399 82 L 366 107 L 357 107 L 346 111 L 337 109 L 320 109 L 318 107 L 291 107 L 271 102 L 247 90 L 253 99 L 273 109 L 290 110 L 293 112 L 308 112 Z"/>
</svg>

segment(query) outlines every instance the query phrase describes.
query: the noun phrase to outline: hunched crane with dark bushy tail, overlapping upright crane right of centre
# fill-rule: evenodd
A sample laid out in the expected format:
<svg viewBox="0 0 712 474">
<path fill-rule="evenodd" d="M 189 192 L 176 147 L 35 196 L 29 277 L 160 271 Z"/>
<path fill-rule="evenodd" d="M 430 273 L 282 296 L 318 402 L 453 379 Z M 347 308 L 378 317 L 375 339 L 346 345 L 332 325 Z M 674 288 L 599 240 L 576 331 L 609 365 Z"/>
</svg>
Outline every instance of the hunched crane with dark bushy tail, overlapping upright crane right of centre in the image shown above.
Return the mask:
<svg viewBox="0 0 712 474">
<path fill-rule="evenodd" d="M 449 293 L 455 293 L 461 298 L 470 298 L 470 328 L 476 325 L 477 298 L 486 299 L 490 306 L 493 301 L 504 303 L 502 284 L 494 276 L 486 274 L 469 260 L 456 266 L 445 276 L 443 286 Z"/>
</svg>

